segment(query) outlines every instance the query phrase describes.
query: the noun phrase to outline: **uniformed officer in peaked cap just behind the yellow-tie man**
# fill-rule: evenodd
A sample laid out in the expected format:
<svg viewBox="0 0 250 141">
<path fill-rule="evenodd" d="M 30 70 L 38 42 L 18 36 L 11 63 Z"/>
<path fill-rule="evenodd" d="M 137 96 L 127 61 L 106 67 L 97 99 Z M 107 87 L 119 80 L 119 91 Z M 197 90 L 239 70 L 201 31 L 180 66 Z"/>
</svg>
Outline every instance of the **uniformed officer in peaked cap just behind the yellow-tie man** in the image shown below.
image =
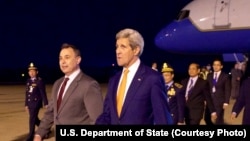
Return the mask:
<svg viewBox="0 0 250 141">
<path fill-rule="evenodd" d="M 165 80 L 166 94 L 168 96 L 168 105 L 170 108 L 171 116 L 175 125 L 184 124 L 184 120 L 179 118 L 182 113 L 180 106 L 184 106 L 179 98 L 179 93 L 181 92 L 182 85 L 174 82 L 174 69 L 170 67 L 167 63 L 163 64 L 162 76 Z"/>
</svg>

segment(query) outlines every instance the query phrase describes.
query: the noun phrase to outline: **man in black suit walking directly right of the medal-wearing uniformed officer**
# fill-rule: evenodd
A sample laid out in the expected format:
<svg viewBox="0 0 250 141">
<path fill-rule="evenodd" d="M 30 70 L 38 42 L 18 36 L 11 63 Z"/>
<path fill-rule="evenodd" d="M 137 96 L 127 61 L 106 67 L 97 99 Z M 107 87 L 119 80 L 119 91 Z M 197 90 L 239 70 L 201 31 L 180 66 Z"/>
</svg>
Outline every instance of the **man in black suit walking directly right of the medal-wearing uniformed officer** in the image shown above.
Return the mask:
<svg viewBox="0 0 250 141">
<path fill-rule="evenodd" d="M 212 111 L 211 119 L 216 119 L 216 112 L 209 94 L 208 82 L 199 77 L 200 66 L 197 63 L 189 65 L 189 78 L 182 80 L 185 93 L 182 96 L 182 103 L 185 104 L 183 109 L 186 125 L 199 125 L 204 114 L 205 102 Z"/>
</svg>

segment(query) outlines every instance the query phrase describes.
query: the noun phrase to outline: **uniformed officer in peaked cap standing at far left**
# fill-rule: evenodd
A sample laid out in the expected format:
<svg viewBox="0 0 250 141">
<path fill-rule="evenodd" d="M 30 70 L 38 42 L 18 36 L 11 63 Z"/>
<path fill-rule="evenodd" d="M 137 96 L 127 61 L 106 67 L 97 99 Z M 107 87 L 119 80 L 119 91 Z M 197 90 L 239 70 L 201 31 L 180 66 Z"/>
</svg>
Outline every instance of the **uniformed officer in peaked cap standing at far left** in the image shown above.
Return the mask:
<svg viewBox="0 0 250 141">
<path fill-rule="evenodd" d="M 40 109 L 48 106 L 45 83 L 38 77 L 38 69 L 33 63 L 28 68 L 29 79 L 26 82 L 25 109 L 29 112 L 29 134 L 27 141 L 33 141 L 35 126 L 39 126 Z"/>
</svg>

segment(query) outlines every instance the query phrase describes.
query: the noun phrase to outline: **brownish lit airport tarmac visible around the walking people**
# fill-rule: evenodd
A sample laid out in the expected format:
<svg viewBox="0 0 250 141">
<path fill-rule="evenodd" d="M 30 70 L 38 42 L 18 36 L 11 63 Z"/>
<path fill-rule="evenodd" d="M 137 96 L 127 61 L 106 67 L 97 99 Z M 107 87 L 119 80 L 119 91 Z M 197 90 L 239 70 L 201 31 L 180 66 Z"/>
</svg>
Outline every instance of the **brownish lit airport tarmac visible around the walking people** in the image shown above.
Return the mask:
<svg viewBox="0 0 250 141">
<path fill-rule="evenodd" d="M 46 86 L 48 98 L 51 95 L 52 85 Z M 103 94 L 106 94 L 107 84 L 101 84 Z M 28 134 L 28 113 L 24 108 L 25 85 L 0 85 L 0 141 L 25 141 Z M 242 120 L 242 112 L 232 122 L 230 112 L 234 104 L 230 101 L 225 111 L 225 121 L 229 125 L 239 125 Z M 45 109 L 41 109 L 39 117 L 42 118 Z M 201 122 L 204 125 L 204 121 Z M 55 133 L 44 141 L 55 141 Z"/>
</svg>

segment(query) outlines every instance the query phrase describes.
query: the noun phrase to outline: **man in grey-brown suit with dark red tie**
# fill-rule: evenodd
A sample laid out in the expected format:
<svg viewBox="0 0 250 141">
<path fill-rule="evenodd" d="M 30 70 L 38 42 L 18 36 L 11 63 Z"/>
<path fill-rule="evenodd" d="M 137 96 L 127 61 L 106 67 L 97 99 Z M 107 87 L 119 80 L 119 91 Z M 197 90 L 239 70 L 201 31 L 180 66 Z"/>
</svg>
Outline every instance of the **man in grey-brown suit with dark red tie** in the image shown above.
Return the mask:
<svg viewBox="0 0 250 141">
<path fill-rule="evenodd" d="M 96 80 L 80 69 L 80 50 L 63 44 L 59 65 L 65 76 L 53 85 L 51 101 L 36 132 L 34 141 L 41 141 L 53 125 L 93 125 L 103 109 L 103 97 Z M 67 80 L 67 83 L 64 83 Z M 62 88 L 64 87 L 64 91 Z"/>
</svg>

